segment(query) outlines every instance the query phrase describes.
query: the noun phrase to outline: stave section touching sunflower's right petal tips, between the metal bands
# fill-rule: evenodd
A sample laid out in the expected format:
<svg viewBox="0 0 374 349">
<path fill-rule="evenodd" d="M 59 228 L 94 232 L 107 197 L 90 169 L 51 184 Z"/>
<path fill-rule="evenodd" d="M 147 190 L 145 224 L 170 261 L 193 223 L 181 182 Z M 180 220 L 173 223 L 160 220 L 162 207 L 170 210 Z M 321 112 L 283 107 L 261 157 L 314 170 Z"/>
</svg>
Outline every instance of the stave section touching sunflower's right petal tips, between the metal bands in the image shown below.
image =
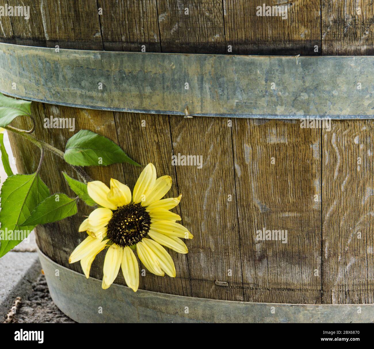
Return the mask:
<svg viewBox="0 0 374 349">
<path fill-rule="evenodd" d="M 243 300 L 231 128 L 220 118 L 170 121 L 174 155 L 202 160 L 176 166 L 183 224 L 194 235 L 187 255 L 192 295 Z"/>
</svg>

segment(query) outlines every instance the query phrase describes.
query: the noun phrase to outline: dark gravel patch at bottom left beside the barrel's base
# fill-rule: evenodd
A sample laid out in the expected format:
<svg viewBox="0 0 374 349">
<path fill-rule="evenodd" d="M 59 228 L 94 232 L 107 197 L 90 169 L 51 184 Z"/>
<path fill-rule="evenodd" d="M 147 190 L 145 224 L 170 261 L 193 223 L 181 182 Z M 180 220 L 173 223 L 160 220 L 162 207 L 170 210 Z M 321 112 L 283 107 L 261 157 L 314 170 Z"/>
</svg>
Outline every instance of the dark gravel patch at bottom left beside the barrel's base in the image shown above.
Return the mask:
<svg viewBox="0 0 374 349">
<path fill-rule="evenodd" d="M 60 311 L 49 295 L 46 279 L 40 274 L 32 284 L 33 291 L 27 299 L 21 299 L 20 306 L 13 317 L 12 322 L 18 323 L 74 323 Z M 9 305 L 9 309 L 12 304 Z"/>
</svg>

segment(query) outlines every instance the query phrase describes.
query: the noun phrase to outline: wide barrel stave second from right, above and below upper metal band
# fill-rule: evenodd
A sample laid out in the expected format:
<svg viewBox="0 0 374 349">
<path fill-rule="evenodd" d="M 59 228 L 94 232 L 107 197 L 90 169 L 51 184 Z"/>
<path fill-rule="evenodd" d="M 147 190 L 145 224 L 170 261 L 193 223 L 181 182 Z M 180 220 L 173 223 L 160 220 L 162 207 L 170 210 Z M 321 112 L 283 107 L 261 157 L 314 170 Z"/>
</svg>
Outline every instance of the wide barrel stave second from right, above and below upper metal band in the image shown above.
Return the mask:
<svg viewBox="0 0 374 349">
<path fill-rule="evenodd" d="M 263 3 L 223 1 L 226 44 L 232 45 L 234 54 L 321 54 L 320 1 L 295 1 L 287 9 L 287 19 L 257 16 L 256 7 Z M 266 5 L 281 4 L 267 1 Z M 321 303 L 319 137 L 316 130 L 302 130 L 298 123 L 235 120 L 237 206 L 247 301 Z M 314 195 L 318 195 L 317 202 Z M 257 241 L 255 233 L 262 228 L 287 229 L 290 240 L 287 244 Z M 319 277 L 314 276 L 315 269 Z"/>
</svg>

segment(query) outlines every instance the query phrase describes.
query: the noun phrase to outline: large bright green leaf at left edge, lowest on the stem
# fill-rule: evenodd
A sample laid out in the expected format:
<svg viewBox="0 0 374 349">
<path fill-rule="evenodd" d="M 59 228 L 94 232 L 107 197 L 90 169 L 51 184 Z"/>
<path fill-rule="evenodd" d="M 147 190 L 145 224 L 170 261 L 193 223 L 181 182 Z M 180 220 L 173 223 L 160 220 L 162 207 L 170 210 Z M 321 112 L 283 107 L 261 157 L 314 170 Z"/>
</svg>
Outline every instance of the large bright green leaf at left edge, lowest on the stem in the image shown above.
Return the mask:
<svg viewBox="0 0 374 349">
<path fill-rule="evenodd" d="M 6 179 L 0 194 L 0 257 L 18 245 L 35 228 L 35 225 L 20 223 L 49 195 L 49 189 L 36 172 L 31 175 L 16 174 Z M 11 232 L 14 236 L 7 236 Z"/>
</svg>

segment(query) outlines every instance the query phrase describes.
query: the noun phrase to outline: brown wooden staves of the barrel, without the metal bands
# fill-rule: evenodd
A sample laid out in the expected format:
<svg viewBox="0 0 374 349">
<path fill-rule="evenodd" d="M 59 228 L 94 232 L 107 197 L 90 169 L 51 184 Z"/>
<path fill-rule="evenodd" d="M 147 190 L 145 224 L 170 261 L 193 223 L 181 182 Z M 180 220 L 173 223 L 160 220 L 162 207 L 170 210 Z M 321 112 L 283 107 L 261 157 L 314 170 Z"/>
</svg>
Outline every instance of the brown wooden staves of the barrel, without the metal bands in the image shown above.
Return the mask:
<svg viewBox="0 0 374 349">
<path fill-rule="evenodd" d="M 10 4 L 12 1 L 8 1 Z M 275 1 L 267 1 L 269 5 Z M 362 2 L 364 4 L 362 4 Z M 309 56 L 373 53 L 373 9 L 361 1 L 297 0 L 288 16 L 257 16 L 263 1 L 33 0 L 30 20 L 0 18 L 3 43 L 61 49 Z M 98 7 L 102 9 L 98 14 Z M 188 10 L 188 11 L 187 11 Z M 188 14 L 187 14 L 188 13 Z M 347 22 L 347 16 L 352 21 Z M 354 19 L 354 20 L 353 20 Z M 337 72 L 338 74 L 338 72 Z M 280 119 L 194 117 L 82 109 L 34 102 L 35 137 L 64 150 L 72 132 L 45 129 L 45 117 L 75 119 L 75 131 L 110 138 L 135 161 L 153 162 L 183 194 L 189 253 L 172 257 L 177 277 L 147 274 L 140 289 L 244 302 L 355 304 L 373 299 L 373 121 L 335 120 L 332 130 Z M 142 127 L 145 121 L 146 127 Z M 27 128 L 22 120 L 12 125 Z M 32 173 L 39 151 L 10 134 L 18 171 Z M 172 155 L 202 155 L 203 166 L 172 166 Z M 361 166 L 358 166 L 361 158 Z M 51 192 L 71 193 L 47 153 L 41 176 Z M 134 187 L 141 168 L 89 167 L 92 178 Z M 82 241 L 90 210 L 37 227 L 40 250 L 82 273 L 68 256 Z M 256 231 L 288 231 L 288 243 L 258 241 Z M 91 276 L 102 278 L 104 253 Z M 116 284 L 125 285 L 121 273 Z"/>
</svg>

